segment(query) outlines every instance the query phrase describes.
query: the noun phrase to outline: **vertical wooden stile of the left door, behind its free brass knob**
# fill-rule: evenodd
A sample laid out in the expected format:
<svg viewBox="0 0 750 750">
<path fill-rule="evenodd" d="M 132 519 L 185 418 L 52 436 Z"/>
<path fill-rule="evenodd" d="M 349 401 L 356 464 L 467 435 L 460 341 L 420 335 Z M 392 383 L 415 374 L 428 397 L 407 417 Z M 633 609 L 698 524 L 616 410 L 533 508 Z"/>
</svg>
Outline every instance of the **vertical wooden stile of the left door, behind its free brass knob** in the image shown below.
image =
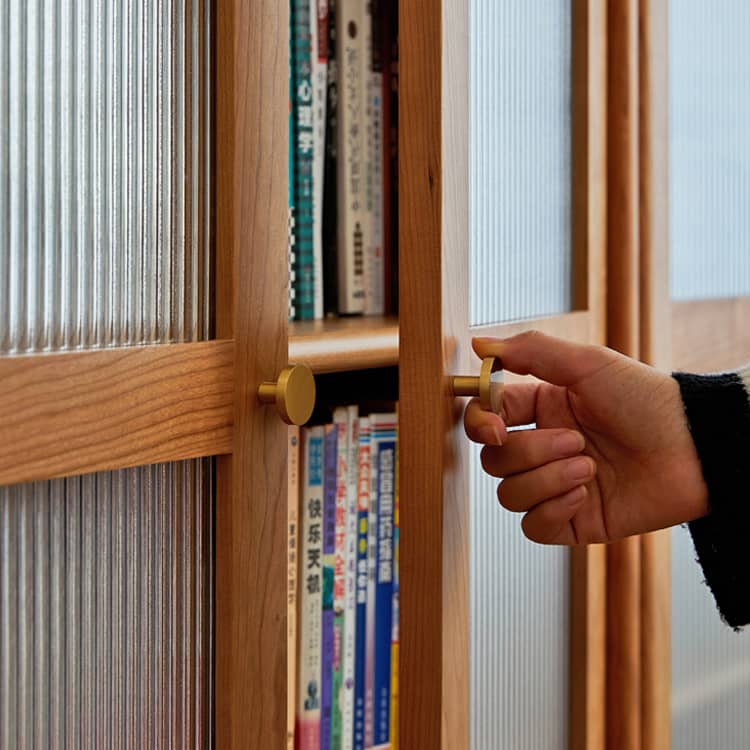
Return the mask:
<svg viewBox="0 0 750 750">
<path fill-rule="evenodd" d="M 235 342 L 217 464 L 216 745 L 286 737 L 286 425 L 255 393 L 286 364 L 289 5 L 217 0 L 216 321 Z"/>
</svg>

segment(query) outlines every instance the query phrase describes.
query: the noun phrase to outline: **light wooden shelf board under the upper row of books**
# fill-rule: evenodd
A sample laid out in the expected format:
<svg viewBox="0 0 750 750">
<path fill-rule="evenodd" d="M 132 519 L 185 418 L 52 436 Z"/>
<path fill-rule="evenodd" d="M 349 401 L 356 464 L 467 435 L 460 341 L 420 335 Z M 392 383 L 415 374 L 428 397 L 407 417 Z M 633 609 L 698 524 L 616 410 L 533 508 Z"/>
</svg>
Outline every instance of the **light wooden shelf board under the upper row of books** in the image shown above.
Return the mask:
<svg viewBox="0 0 750 750">
<path fill-rule="evenodd" d="M 314 372 L 398 364 L 398 318 L 331 318 L 289 324 L 289 359 Z"/>
</svg>

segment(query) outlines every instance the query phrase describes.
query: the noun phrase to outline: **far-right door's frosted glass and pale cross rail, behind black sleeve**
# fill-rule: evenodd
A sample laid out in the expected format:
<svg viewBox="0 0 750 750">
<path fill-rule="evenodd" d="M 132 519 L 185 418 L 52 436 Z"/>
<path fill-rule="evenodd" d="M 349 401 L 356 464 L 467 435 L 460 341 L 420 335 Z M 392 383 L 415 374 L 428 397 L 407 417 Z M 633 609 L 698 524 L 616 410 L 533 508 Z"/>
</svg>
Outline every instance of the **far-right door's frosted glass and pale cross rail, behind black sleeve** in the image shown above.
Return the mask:
<svg viewBox="0 0 750 750">
<path fill-rule="evenodd" d="M 670 248 L 676 369 L 750 362 L 750 8 L 670 4 Z M 721 622 L 686 529 L 672 532 L 672 746 L 739 748 L 750 636 Z"/>
</svg>

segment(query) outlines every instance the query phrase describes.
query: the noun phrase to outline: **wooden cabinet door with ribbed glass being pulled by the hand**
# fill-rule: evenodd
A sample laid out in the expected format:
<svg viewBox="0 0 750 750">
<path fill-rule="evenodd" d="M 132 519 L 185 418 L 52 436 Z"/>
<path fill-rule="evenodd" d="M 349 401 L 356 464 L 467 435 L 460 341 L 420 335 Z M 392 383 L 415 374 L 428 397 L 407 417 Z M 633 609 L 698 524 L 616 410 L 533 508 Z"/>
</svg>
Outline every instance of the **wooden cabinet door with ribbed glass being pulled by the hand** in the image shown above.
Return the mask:
<svg viewBox="0 0 750 750">
<path fill-rule="evenodd" d="M 404 747 L 604 746 L 603 548 L 522 538 L 448 387 L 473 335 L 605 340 L 602 12 L 401 2 Z"/>
</svg>

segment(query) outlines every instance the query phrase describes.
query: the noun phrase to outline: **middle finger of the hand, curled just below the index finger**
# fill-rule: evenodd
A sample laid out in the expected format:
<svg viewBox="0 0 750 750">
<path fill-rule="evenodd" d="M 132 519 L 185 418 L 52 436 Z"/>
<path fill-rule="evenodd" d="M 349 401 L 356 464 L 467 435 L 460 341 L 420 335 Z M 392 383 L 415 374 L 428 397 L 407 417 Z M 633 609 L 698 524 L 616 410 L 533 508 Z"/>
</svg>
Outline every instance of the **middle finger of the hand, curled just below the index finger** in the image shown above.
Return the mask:
<svg viewBox="0 0 750 750">
<path fill-rule="evenodd" d="M 585 445 L 583 435 L 575 430 L 511 432 L 502 448 L 487 445 L 482 449 L 482 468 L 494 477 L 507 477 L 575 456 Z"/>
</svg>

